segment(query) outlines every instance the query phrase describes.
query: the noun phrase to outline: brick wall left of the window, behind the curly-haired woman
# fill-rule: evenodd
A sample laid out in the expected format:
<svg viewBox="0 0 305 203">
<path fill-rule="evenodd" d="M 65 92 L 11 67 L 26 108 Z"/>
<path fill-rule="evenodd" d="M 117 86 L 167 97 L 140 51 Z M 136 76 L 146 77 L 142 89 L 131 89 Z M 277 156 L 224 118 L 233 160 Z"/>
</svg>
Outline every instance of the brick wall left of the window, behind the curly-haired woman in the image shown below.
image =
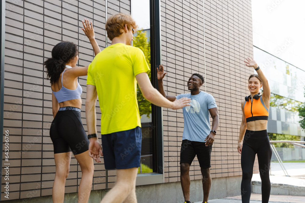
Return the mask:
<svg viewBox="0 0 305 203">
<path fill-rule="evenodd" d="M 118 12 L 130 14 L 130 0 L 108 0 L 107 3 L 108 16 Z M 53 120 L 52 92 L 43 62 L 51 57 L 54 45 L 72 41 L 79 47 L 78 65 L 89 65 L 94 53 L 80 29 L 81 20 L 93 20 L 96 40 L 101 48 L 105 47 L 105 5 L 105 0 L 6 1 L 3 129 L 8 129 L 10 134 L 9 199 L 52 194 L 55 177 L 53 146 L 49 137 Z M 86 130 L 86 77 L 80 77 L 79 83 L 83 88 L 81 115 Z M 99 108 L 97 112 L 100 112 Z M 109 176 L 112 173 L 110 171 Z M 104 165 L 96 164 L 94 190 L 105 188 L 105 176 Z M 109 177 L 109 182 L 114 182 L 114 178 Z M 66 193 L 77 192 L 80 180 L 81 169 L 73 157 Z M 4 177 L 2 183 L 5 183 Z M 112 185 L 109 183 L 109 187 Z M 2 200 L 5 200 L 3 193 Z"/>
</svg>

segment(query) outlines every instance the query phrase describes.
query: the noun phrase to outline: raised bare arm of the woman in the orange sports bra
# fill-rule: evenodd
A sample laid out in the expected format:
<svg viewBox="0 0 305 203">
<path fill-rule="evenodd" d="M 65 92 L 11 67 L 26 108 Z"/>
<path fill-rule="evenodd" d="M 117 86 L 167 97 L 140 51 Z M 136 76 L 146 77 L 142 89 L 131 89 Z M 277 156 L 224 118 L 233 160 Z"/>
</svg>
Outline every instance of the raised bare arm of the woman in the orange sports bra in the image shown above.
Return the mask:
<svg viewBox="0 0 305 203">
<path fill-rule="evenodd" d="M 254 69 L 258 68 L 258 65 L 257 63 L 254 61 L 253 58 L 246 58 L 246 61 L 244 61 L 246 63 L 246 66 L 248 67 L 253 67 Z M 263 93 L 263 100 L 264 100 L 264 103 L 267 105 L 270 101 L 270 86 L 269 86 L 269 83 L 268 83 L 268 80 L 266 78 L 266 76 L 264 75 L 262 69 L 258 69 L 257 71 L 257 75 L 260 77 L 260 79 L 262 80 L 263 82 L 263 89 L 264 89 L 264 93 Z M 267 105 L 268 106 L 268 105 Z"/>
</svg>

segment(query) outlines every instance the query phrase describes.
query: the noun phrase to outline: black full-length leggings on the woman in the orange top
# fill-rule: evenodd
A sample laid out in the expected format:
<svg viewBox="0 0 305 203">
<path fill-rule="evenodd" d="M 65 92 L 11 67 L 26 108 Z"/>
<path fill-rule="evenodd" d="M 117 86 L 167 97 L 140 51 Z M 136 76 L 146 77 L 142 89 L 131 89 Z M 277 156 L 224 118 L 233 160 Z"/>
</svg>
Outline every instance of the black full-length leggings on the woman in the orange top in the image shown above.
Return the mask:
<svg viewBox="0 0 305 203">
<path fill-rule="evenodd" d="M 242 203 L 250 202 L 251 179 L 253 175 L 253 165 L 257 154 L 260 178 L 262 180 L 262 203 L 269 201 L 271 184 L 269 179 L 269 169 L 272 150 L 269 142 L 267 130 L 249 131 L 246 130 L 242 145 Z"/>
</svg>

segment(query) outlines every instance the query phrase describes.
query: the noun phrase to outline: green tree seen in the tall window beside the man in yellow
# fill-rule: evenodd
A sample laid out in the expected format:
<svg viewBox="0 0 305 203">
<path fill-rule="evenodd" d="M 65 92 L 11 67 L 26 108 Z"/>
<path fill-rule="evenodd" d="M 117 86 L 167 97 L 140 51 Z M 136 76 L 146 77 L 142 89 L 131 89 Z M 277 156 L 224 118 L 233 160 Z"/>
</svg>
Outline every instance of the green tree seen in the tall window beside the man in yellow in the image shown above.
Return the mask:
<svg viewBox="0 0 305 203">
<path fill-rule="evenodd" d="M 138 47 L 143 51 L 144 56 L 146 58 L 146 62 L 150 68 L 150 39 L 148 40 L 148 38 L 146 37 L 146 31 L 143 32 L 143 30 L 139 30 L 137 32 L 137 36 L 135 36 L 133 40 L 133 46 Z M 150 72 L 148 76 L 150 79 L 151 78 Z M 151 114 L 152 112 L 151 103 L 144 98 L 138 85 L 137 85 L 137 98 L 138 98 L 140 116 L 147 115 L 149 117 L 149 114 Z"/>
</svg>

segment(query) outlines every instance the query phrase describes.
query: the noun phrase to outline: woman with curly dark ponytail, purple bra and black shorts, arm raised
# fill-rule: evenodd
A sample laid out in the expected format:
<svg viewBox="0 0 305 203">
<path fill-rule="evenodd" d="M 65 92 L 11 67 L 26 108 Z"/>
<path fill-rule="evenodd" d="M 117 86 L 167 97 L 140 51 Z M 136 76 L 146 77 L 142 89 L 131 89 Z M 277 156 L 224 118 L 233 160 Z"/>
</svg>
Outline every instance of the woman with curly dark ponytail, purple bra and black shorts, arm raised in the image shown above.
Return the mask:
<svg viewBox="0 0 305 203">
<path fill-rule="evenodd" d="M 82 21 L 84 33 L 89 38 L 95 55 L 101 50 L 95 41 L 92 22 Z M 52 190 L 53 202 L 63 202 L 66 178 L 69 174 L 71 152 L 81 166 L 81 182 L 78 203 L 88 202 L 92 179 L 93 159 L 88 153 L 89 141 L 81 122 L 82 88 L 77 77 L 87 75 L 88 66 L 76 67 L 78 49 L 72 42 L 60 42 L 52 49 L 52 58 L 45 61 L 52 89 L 52 111 L 54 120 L 50 137 L 54 146 L 56 173 Z M 73 68 L 72 68 L 73 67 Z"/>
</svg>

